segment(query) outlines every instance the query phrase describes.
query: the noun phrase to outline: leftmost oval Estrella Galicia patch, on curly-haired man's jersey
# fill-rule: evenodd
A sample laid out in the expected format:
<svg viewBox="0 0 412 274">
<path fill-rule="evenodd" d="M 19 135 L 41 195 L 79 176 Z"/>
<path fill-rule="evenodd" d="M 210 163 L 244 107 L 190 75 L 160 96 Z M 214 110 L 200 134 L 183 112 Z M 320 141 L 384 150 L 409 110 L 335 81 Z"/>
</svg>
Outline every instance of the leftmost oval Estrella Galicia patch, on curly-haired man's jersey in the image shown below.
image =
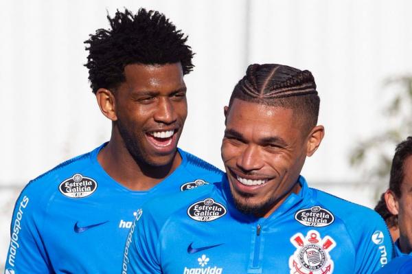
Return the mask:
<svg viewBox="0 0 412 274">
<path fill-rule="evenodd" d="M 82 174 L 74 174 L 71 178 L 62 181 L 58 186 L 61 194 L 70 198 L 84 198 L 93 194 L 98 188 L 95 180 Z"/>
</svg>

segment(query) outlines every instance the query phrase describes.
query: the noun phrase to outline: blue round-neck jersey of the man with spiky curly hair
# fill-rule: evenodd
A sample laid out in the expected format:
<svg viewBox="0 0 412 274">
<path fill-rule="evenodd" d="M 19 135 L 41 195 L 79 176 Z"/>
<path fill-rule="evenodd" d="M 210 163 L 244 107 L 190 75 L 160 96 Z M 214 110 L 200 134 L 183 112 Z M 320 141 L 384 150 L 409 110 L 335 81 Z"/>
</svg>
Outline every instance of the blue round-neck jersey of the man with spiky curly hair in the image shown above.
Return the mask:
<svg viewBox="0 0 412 274">
<path fill-rule="evenodd" d="M 222 179 L 213 165 L 179 150 L 182 162 L 170 176 L 148 191 L 132 191 L 98 163 L 104 145 L 26 185 L 14 207 L 6 273 L 119 273 L 142 203 Z"/>
</svg>

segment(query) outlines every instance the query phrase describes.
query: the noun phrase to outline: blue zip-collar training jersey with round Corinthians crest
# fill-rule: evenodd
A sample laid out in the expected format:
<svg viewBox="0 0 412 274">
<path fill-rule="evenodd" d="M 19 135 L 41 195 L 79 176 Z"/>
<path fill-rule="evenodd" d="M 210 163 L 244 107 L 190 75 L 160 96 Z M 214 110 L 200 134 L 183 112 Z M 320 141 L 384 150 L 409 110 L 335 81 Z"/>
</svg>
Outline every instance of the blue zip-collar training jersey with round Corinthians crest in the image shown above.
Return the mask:
<svg viewBox="0 0 412 274">
<path fill-rule="evenodd" d="M 146 203 L 122 273 L 368 274 L 391 260 L 376 212 L 299 183 L 268 218 L 240 213 L 227 179 Z"/>
</svg>

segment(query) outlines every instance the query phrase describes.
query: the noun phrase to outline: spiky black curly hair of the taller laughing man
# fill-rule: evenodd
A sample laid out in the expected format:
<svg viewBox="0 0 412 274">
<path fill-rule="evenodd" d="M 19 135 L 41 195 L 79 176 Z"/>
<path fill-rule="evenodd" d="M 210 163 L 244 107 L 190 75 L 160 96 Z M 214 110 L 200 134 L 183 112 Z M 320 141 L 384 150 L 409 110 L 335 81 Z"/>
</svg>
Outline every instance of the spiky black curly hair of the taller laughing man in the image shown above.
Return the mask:
<svg viewBox="0 0 412 274">
<path fill-rule="evenodd" d="M 84 41 L 89 44 L 87 63 L 90 87 L 115 89 L 124 82 L 124 67 L 130 64 L 165 65 L 180 62 L 183 75 L 194 65 L 187 36 L 160 12 L 144 8 L 133 14 L 125 9 L 107 15 L 110 29 L 99 29 Z"/>
</svg>

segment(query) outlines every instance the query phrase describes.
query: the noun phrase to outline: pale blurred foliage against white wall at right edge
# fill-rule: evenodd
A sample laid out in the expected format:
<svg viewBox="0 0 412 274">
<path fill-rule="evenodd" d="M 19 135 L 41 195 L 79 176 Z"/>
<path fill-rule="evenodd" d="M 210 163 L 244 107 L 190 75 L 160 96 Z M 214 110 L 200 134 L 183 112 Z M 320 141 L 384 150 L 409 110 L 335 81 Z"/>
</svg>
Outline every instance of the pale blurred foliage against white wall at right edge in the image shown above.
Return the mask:
<svg viewBox="0 0 412 274">
<path fill-rule="evenodd" d="M 350 163 L 369 180 L 389 182 L 393 153 L 397 144 L 412 134 L 412 76 L 389 79 L 385 86 L 396 85 L 396 93 L 382 111 L 380 133 L 360 141 L 350 155 Z M 388 125 L 389 126 L 385 126 Z"/>
</svg>

